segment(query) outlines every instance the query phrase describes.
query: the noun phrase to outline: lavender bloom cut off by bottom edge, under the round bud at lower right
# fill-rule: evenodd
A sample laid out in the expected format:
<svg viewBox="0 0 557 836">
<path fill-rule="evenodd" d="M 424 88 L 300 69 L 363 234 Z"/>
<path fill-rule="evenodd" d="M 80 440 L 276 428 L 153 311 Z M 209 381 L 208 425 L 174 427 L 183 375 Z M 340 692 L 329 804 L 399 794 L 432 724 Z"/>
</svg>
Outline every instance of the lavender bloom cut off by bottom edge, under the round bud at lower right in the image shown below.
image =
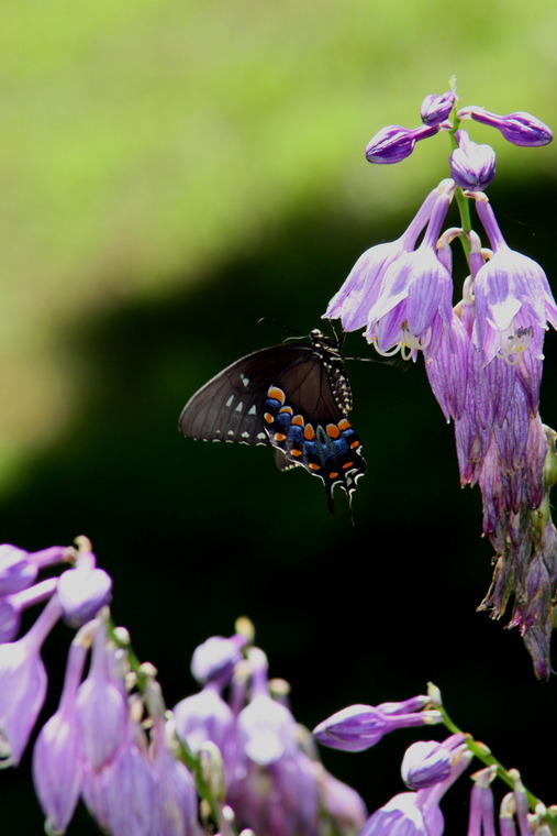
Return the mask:
<svg viewBox="0 0 557 836">
<path fill-rule="evenodd" d="M 396 795 L 368 818 L 359 836 L 442 836 L 444 820 L 439 801 L 468 767 L 471 757 L 463 747 L 448 778 L 425 790 Z"/>
</svg>

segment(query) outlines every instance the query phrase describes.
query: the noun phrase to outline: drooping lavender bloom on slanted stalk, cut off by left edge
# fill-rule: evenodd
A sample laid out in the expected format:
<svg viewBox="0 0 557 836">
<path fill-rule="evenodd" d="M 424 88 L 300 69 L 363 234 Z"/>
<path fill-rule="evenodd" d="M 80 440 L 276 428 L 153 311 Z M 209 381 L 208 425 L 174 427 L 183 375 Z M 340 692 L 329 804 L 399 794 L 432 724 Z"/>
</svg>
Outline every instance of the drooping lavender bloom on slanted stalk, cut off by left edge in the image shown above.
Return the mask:
<svg viewBox="0 0 557 836">
<path fill-rule="evenodd" d="M 29 632 L 0 645 L 0 760 L 18 765 L 43 707 L 46 670 L 41 647 L 58 618 L 60 605 L 51 598 Z"/>
</svg>

